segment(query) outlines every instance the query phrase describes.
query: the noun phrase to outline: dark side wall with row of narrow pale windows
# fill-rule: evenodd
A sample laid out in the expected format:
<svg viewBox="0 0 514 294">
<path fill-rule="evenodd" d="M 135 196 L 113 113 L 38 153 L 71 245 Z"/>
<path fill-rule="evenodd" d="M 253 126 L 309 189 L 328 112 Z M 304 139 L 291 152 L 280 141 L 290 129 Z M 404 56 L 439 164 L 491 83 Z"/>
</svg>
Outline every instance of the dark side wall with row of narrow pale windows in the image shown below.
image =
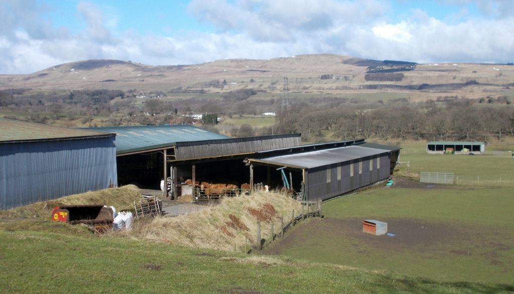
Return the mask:
<svg viewBox="0 0 514 294">
<path fill-rule="evenodd" d="M 370 160 L 373 164 L 373 170 L 370 170 Z M 380 161 L 380 168 L 377 168 L 377 161 Z M 360 173 L 359 161 L 357 160 L 310 168 L 307 173 L 307 200 L 329 199 L 389 178 L 388 153 L 362 158 L 361 162 L 362 172 Z M 350 171 L 352 164 L 353 176 L 351 176 Z M 340 177 L 338 177 L 339 167 Z"/>
</svg>

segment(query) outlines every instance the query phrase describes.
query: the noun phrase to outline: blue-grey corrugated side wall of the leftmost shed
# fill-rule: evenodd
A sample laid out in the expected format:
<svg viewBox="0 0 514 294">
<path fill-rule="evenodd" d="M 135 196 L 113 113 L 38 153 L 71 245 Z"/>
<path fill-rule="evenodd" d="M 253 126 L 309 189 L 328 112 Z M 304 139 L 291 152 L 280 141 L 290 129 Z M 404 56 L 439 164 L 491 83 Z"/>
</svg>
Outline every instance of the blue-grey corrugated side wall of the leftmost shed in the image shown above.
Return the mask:
<svg viewBox="0 0 514 294">
<path fill-rule="evenodd" d="M 114 138 L 0 144 L 0 209 L 117 186 Z"/>
</svg>

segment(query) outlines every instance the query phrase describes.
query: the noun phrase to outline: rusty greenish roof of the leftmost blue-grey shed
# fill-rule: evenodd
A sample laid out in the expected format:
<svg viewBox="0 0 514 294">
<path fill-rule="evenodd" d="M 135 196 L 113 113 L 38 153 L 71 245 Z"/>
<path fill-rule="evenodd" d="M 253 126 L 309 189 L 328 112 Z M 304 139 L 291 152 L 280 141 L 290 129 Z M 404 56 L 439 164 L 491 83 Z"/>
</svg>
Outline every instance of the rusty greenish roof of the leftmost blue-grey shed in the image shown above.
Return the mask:
<svg viewBox="0 0 514 294">
<path fill-rule="evenodd" d="M 71 129 L 65 127 L 0 119 L 0 142 L 24 142 L 58 140 L 90 136 L 110 135 L 94 130 Z"/>
</svg>

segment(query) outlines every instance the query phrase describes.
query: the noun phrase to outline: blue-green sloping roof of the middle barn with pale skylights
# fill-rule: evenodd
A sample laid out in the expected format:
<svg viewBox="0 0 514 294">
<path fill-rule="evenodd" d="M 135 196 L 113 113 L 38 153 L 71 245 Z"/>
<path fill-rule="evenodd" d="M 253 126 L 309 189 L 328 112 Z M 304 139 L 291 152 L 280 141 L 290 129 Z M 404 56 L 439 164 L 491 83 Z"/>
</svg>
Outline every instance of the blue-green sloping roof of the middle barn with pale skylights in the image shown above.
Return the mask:
<svg viewBox="0 0 514 294">
<path fill-rule="evenodd" d="M 192 125 L 101 127 L 88 130 L 116 133 L 116 154 L 164 148 L 176 142 L 230 139 Z"/>
</svg>

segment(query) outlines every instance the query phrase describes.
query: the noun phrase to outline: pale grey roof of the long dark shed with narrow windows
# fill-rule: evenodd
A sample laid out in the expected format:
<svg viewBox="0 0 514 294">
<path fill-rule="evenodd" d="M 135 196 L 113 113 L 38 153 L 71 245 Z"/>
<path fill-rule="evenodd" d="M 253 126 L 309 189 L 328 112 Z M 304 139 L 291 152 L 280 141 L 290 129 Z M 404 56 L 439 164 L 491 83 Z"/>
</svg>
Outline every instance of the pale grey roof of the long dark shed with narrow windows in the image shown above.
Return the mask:
<svg viewBox="0 0 514 294">
<path fill-rule="evenodd" d="M 388 151 L 383 149 L 368 148 L 362 146 L 348 146 L 334 149 L 325 149 L 296 154 L 287 154 L 282 156 L 274 156 L 259 160 L 252 159 L 251 161 L 264 162 L 275 165 L 284 165 L 296 168 L 315 168 L 335 163 L 356 160 L 366 156 L 372 156 L 383 153 L 388 153 Z"/>
</svg>

